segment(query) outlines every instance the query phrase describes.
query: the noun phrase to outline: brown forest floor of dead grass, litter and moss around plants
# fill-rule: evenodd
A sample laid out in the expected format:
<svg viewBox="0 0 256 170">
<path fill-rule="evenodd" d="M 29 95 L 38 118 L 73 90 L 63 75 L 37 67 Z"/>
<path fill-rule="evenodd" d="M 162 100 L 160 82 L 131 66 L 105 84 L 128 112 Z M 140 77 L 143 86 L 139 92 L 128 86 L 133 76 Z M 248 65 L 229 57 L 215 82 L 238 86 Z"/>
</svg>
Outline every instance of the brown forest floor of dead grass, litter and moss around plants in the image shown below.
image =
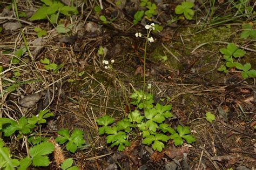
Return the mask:
<svg viewBox="0 0 256 170">
<path fill-rule="evenodd" d="M 79 169 L 255 168 L 255 78 L 242 77 L 244 70 L 235 66 L 227 67 L 228 73 L 218 71 L 226 64 L 220 49 L 231 43 L 245 52 L 234 61 L 250 63 L 251 70 L 256 70 L 256 39 L 253 35 L 241 38 L 242 25 L 256 29 L 253 1 L 196 1 L 191 20 L 174 11 L 183 1 L 156 1 L 157 15 L 144 17 L 137 25 L 133 15 L 145 9 L 139 1 L 104 1 L 99 11 L 98 1 L 71 1 L 78 13 L 58 18 L 66 27 L 72 25 L 66 33 L 56 31 L 48 19 L 29 19 L 42 2 L 17 1 L 17 11 L 23 12 L 20 20 L 15 4 L 0 4 L 0 115 L 17 121 L 45 109 L 54 114 L 29 135 L 18 130 L 10 136 L 2 133 L 12 157 L 28 155 L 33 146 L 29 137 L 39 134 L 54 140 L 57 131 L 66 128 L 84 132 L 85 145 L 75 153 L 60 145 L 60 154 L 72 158 Z M 241 2 L 246 8 L 241 8 Z M 130 95 L 143 89 L 144 83 L 145 39 L 135 34 L 146 36 L 145 25 L 151 23 L 163 30 L 152 32 L 154 42 L 147 43 L 148 92 L 155 103 L 172 105 L 173 117 L 166 123 L 174 129 L 190 127 L 196 142 L 184 140 L 176 146 L 170 140 L 158 152 L 143 145 L 140 135 L 131 135 L 131 145 L 119 152 L 106 143 L 106 135 L 98 134 L 96 119 L 110 115 L 119 121 L 129 114 Z M 38 37 L 35 28 L 46 35 Z M 49 61 L 44 63 L 45 58 Z M 109 61 L 108 69 L 103 60 Z M 212 123 L 205 119 L 206 112 L 214 114 Z M 2 124 L 0 131 L 6 132 Z M 49 159 L 49 167 L 42 169 L 59 168 L 54 155 Z"/>
</svg>

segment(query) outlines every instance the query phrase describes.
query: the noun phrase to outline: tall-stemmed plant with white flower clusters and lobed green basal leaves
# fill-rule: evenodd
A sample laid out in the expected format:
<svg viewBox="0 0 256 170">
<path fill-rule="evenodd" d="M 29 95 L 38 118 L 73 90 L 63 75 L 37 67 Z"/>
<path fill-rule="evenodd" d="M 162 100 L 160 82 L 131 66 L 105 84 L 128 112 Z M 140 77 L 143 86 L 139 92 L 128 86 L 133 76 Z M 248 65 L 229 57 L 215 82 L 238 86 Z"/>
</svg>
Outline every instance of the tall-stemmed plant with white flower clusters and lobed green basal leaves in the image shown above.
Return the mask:
<svg viewBox="0 0 256 170">
<path fill-rule="evenodd" d="M 145 71 L 146 71 L 146 49 L 149 43 L 154 42 L 150 36 L 151 31 L 155 30 L 154 23 L 145 25 L 147 35 L 137 32 L 136 37 L 144 37 L 144 77 L 143 90 L 135 91 L 131 96 L 131 104 L 136 109 L 123 120 L 114 123 L 114 119 L 105 115 L 96 119 L 99 135 L 106 134 L 107 144 L 118 146 L 118 151 L 123 151 L 125 146 L 130 145 L 129 137 L 140 134 L 143 138 L 142 144 L 150 145 L 154 150 L 161 152 L 165 147 L 164 142 L 173 139 L 174 145 L 182 145 L 184 140 L 191 144 L 196 139 L 190 134 L 188 126 L 178 126 L 177 131 L 167 124 L 167 120 L 173 117 L 171 111 L 172 105 L 161 105 L 154 103 L 153 94 L 146 92 Z"/>
</svg>

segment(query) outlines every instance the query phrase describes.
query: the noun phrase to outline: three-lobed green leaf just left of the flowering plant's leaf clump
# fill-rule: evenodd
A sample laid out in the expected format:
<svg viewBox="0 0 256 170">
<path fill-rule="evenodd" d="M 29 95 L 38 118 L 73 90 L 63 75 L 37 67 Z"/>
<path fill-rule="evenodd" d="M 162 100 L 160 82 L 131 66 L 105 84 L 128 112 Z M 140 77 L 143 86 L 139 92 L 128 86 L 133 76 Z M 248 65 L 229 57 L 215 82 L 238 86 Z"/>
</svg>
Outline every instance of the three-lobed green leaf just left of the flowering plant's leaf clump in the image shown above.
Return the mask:
<svg viewBox="0 0 256 170">
<path fill-rule="evenodd" d="M 69 135 L 69 130 L 59 130 L 57 132 L 60 136 L 56 138 L 56 142 L 59 144 L 66 144 L 66 149 L 72 153 L 75 153 L 78 147 L 82 147 L 85 144 L 84 132 L 81 130 L 73 130 L 72 134 Z"/>
</svg>

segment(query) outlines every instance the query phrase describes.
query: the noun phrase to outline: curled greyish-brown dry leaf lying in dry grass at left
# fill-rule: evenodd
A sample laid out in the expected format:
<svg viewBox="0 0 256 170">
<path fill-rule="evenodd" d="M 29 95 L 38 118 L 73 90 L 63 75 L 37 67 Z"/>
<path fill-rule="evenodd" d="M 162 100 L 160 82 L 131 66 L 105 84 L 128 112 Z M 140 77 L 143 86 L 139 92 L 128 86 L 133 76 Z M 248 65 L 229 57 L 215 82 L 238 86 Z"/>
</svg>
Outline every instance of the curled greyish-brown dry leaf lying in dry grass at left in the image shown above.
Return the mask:
<svg viewBox="0 0 256 170">
<path fill-rule="evenodd" d="M 23 99 L 21 99 L 19 104 L 25 108 L 31 108 L 36 105 L 36 103 L 41 99 L 43 94 L 44 94 L 43 92 L 40 92 L 40 93 L 30 94 L 29 96 L 25 96 Z"/>
</svg>

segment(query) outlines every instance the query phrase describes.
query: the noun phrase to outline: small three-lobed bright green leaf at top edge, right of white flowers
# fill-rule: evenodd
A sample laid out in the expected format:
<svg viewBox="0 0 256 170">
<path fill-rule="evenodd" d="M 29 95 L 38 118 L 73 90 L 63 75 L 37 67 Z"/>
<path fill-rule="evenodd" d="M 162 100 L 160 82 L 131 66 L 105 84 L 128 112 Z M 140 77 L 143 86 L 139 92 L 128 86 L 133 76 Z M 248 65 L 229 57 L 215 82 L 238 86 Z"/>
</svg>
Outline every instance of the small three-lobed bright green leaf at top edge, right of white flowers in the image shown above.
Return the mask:
<svg viewBox="0 0 256 170">
<path fill-rule="evenodd" d="M 183 2 L 181 5 L 176 6 L 175 13 L 179 15 L 184 14 L 186 19 L 191 20 L 194 16 L 194 10 L 191 9 L 193 6 L 193 2 Z"/>
</svg>

